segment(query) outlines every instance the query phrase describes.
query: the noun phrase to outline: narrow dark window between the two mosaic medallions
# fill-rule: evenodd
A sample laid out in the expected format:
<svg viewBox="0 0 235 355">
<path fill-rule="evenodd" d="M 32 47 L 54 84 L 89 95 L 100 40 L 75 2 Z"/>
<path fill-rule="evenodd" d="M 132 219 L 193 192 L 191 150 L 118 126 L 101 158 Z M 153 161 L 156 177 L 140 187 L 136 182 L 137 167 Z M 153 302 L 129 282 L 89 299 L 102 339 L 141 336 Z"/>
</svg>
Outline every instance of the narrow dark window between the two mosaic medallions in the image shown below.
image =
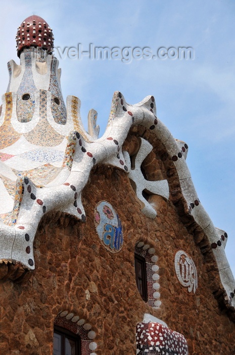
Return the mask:
<svg viewBox="0 0 235 355">
<path fill-rule="evenodd" d="M 144 301 L 148 301 L 146 261 L 145 258 L 134 254 L 135 280 L 140 296 Z"/>
</svg>

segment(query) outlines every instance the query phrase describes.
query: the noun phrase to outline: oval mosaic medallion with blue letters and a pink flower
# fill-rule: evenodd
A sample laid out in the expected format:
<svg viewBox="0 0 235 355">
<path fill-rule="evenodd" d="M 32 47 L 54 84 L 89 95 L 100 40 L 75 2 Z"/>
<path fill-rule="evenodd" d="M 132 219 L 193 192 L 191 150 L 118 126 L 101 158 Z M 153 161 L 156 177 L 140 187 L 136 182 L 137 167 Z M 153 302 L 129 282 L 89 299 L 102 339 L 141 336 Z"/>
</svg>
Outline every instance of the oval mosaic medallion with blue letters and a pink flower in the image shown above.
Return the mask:
<svg viewBox="0 0 235 355">
<path fill-rule="evenodd" d="M 117 212 L 107 201 L 95 208 L 95 225 L 101 242 L 111 253 L 117 253 L 123 245 L 122 225 Z"/>
</svg>

